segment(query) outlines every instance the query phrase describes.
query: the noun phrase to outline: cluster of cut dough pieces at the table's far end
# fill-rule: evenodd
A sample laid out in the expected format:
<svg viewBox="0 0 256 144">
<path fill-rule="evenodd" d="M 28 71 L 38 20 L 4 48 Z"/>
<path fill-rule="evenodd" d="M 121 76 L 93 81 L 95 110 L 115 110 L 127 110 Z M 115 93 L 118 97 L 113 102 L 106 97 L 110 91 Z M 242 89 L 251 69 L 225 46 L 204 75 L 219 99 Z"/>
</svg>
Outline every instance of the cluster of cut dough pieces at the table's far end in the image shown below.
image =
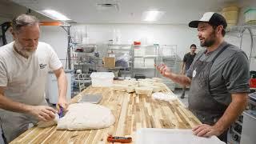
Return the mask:
<svg viewBox="0 0 256 144">
<path fill-rule="evenodd" d="M 146 94 L 150 95 L 161 90 L 166 90 L 166 86 L 162 83 L 162 78 L 146 78 L 138 79 L 138 81 L 124 80 L 121 83 L 114 84 L 112 90 L 123 91 L 127 93 Z"/>
</svg>

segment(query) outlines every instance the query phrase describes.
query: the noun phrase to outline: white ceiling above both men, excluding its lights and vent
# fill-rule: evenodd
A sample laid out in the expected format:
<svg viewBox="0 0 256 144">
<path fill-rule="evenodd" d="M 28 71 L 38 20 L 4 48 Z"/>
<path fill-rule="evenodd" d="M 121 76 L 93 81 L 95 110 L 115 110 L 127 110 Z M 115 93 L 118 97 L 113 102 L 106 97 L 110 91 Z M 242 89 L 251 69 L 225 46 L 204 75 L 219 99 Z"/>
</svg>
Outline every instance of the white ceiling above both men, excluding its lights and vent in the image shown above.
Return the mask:
<svg viewBox="0 0 256 144">
<path fill-rule="evenodd" d="M 146 10 L 166 13 L 157 24 L 187 24 L 206 11 L 220 11 L 238 0 L 115 0 L 119 10 L 98 10 L 98 2 L 114 0 L 12 0 L 31 10 L 58 10 L 78 23 L 148 23 L 142 21 Z"/>
</svg>

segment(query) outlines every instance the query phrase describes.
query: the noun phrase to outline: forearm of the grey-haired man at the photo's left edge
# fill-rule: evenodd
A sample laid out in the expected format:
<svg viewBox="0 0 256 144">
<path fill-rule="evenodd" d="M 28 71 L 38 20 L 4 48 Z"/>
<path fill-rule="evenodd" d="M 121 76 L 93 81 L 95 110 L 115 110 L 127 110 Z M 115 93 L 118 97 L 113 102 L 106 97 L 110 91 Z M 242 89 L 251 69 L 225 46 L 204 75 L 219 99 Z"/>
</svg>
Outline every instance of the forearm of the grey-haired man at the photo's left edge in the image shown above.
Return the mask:
<svg viewBox="0 0 256 144">
<path fill-rule="evenodd" d="M 10 110 L 17 113 L 28 113 L 31 110 L 30 105 L 26 105 L 20 102 L 14 102 L 9 98 L 6 98 L 0 94 L 0 108 L 4 110 Z"/>
</svg>

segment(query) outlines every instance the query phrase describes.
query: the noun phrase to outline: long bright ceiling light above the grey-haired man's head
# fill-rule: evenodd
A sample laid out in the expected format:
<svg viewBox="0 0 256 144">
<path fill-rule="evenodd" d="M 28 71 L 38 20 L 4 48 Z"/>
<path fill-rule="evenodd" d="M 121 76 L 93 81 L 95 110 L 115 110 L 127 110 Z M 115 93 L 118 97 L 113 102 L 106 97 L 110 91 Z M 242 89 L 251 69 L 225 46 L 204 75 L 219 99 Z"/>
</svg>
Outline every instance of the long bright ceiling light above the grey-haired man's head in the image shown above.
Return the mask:
<svg viewBox="0 0 256 144">
<path fill-rule="evenodd" d="M 68 21 L 71 20 L 70 18 L 67 18 L 65 15 L 59 13 L 56 10 L 37 10 L 38 13 L 44 14 L 49 18 L 59 20 L 59 21 Z"/>
</svg>

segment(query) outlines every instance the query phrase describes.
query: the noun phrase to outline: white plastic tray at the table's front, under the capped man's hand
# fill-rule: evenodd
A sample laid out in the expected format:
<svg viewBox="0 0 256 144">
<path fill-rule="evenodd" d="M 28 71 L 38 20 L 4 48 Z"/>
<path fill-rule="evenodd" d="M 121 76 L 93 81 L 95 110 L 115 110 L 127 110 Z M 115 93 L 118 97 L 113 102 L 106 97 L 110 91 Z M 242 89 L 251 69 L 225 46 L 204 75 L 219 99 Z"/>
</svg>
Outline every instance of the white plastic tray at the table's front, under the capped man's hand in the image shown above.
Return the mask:
<svg viewBox="0 0 256 144">
<path fill-rule="evenodd" d="M 195 136 L 191 129 L 142 128 L 136 132 L 136 144 L 225 144 L 216 136 Z"/>
</svg>

